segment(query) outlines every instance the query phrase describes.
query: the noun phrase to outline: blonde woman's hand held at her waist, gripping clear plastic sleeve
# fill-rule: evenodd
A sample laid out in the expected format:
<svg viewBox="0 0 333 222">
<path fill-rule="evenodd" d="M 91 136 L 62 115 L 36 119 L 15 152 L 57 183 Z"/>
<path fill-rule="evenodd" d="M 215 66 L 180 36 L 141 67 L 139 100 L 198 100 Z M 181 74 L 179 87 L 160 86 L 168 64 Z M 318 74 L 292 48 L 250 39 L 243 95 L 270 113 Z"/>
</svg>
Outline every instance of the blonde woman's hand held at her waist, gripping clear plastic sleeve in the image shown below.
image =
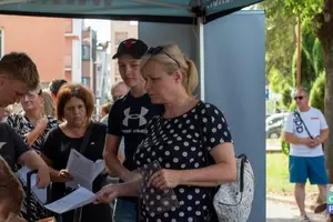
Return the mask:
<svg viewBox="0 0 333 222">
<path fill-rule="evenodd" d="M 167 190 L 180 185 L 181 179 L 181 171 L 162 169 L 151 176 L 150 183 L 157 189 Z"/>
</svg>

